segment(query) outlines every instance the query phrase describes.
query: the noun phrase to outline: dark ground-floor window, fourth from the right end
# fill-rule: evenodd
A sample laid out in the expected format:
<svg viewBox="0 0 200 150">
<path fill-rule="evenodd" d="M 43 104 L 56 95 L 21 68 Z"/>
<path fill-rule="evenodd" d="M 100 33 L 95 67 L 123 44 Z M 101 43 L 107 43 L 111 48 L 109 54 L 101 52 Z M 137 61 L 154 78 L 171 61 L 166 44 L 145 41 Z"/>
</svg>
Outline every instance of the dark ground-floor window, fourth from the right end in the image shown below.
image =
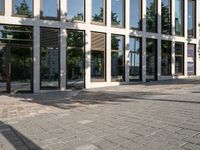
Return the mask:
<svg viewBox="0 0 200 150">
<path fill-rule="evenodd" d="M 146 41 L 146 76 L 147 80 L 157 79 L 157 40 L 154 39 Z"/>
</svg>

